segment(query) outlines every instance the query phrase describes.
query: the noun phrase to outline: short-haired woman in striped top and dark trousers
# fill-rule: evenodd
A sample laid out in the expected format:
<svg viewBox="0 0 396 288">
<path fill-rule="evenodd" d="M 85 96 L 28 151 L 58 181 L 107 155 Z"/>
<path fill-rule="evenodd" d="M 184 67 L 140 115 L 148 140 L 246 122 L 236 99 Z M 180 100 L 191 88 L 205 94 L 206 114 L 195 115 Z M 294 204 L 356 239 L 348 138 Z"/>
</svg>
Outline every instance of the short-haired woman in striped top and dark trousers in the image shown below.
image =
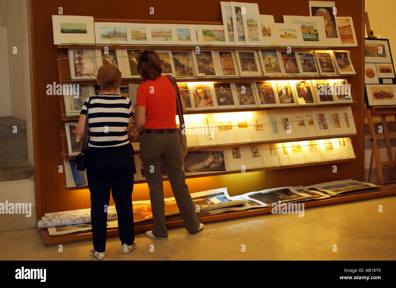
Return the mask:
<svg viewBox="0 0 396 288">
<path fill-rule="evenodd" d="M 86 157 L 93 238 L 93 249 L 89 251 L 89 255 L 103 259 L 110 188 L 116 205 L 123 252 L 127 254 L 137 248 L 137 244 L 133 242 L 135 233 L 131 200 L 133 148 L 127 135 L 132 125 L 133 113 L 131 100 L 116 93 L 121 83 L 121 72 L 116 66 L 101 66 L 97 82 L 102 92 L 84 102 L 78 120 L 77 135 L 84 135 L 88 107 L 89 141 Z"/>
</svg>

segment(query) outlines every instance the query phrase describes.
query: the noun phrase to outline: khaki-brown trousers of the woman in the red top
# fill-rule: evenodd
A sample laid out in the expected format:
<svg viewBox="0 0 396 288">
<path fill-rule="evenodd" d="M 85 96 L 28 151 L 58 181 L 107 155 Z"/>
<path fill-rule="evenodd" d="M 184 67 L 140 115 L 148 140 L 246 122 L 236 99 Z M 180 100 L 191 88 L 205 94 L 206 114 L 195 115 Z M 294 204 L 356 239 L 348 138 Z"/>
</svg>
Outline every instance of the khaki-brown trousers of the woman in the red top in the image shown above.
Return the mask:
<svg viewBox="0 0 396 288">
<path fill-rule="evenodd" d="M 150 189 L 153 235 L 159 238 L 168 237 L 168 231 L 165 226 L 161 159 L 166 168 L 183 223 L 189 233 L 197 232 L 200 221 L 186 184 L 179 133 L 150 134 L 145 133 L 143 130 L 140 138 L 140 152 L 148 188 Z M 150 167 L 154 168 L 154 172 L 150 173 Z"/>
</svg>

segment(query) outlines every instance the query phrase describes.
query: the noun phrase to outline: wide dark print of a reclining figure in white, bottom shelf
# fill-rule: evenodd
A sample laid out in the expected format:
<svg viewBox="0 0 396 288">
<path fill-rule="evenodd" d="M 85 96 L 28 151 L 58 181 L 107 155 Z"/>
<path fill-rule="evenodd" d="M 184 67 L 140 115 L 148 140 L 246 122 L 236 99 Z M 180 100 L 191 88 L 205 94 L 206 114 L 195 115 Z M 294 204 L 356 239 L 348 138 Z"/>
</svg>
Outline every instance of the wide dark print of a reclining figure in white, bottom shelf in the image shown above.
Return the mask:
<svg viewBox="0 0 396 288">
<path fill-rule="evenodd" d="M 223 151 L 190 151 L 184 158 L 186 172 L 225 171 Z"/>
</svg>

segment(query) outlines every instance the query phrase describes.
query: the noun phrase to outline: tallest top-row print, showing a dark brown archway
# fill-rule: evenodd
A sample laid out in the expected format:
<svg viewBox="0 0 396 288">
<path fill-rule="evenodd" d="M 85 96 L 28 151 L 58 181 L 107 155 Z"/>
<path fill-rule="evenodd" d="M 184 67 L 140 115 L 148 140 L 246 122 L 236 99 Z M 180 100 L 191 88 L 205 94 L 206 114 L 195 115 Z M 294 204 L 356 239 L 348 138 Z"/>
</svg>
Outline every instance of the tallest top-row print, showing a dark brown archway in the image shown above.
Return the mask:
<svg viewBox="0 0 396 288">
<path fill-rule="evenodd" d="M 335 7 L 333 1 L 309 1 L 309 15 L 323 18 L 326 38 L 338 38 L 337 21 L 335 14 L 333 14 L 333 7 Z"/>
</svg>

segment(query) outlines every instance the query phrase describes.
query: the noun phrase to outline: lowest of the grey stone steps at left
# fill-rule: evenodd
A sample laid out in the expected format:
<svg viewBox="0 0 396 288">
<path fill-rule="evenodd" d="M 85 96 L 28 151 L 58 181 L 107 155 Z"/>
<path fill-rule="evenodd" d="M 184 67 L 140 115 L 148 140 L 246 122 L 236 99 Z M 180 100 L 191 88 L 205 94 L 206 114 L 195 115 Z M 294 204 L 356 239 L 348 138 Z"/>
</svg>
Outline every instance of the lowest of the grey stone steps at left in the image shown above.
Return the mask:
<svg viewBox="0 0 396 288">
<path fill-rule="evenodd" d="M 0 182 L 29 179 L 34 168 L 27 156 L 0 157 Z"/>
</svg>

